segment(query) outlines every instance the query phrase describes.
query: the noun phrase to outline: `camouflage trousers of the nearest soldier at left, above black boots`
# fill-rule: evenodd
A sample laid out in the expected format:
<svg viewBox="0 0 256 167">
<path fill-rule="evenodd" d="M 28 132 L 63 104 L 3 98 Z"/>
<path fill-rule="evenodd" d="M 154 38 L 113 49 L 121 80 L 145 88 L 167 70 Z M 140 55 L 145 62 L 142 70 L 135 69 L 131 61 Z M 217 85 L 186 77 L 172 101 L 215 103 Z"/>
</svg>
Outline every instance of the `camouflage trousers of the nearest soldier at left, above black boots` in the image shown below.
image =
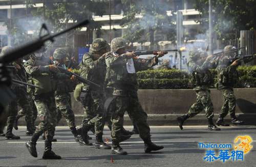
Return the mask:
<svg viewBox="0 0 256 167">
<path fill-rule="evenodd" d="M 39 136 L 46 132 L 46 142 L 52 142 L 56 126 L 56 108 L 53 93 L 40 94 L 33 97 L 40 123 L 31 141 L 36 142 Z"/>
</svg>

